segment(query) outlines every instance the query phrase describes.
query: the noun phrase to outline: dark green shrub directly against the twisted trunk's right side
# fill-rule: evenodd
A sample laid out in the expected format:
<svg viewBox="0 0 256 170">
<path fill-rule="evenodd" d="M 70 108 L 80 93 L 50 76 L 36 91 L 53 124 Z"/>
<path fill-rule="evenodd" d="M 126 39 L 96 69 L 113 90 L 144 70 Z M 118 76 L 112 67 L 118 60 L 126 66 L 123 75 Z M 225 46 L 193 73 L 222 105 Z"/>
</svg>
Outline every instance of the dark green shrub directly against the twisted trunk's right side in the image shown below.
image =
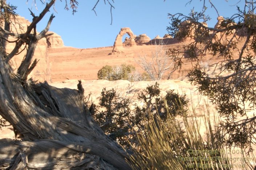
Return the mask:
<svg viewBox="0 0 256 170">
<path fill-rule="evenodd" d="M 129 147 L 127 137 L 131 138 L 129 121 L 131 121 L 130 100 L 121 97 L 115 89 L 103 88 L 99 98 L 99 106 L 93 114 L 94 121 L 111 139 Z M 130 135 L 130 136 L 129 136 Z"/>
</svg>

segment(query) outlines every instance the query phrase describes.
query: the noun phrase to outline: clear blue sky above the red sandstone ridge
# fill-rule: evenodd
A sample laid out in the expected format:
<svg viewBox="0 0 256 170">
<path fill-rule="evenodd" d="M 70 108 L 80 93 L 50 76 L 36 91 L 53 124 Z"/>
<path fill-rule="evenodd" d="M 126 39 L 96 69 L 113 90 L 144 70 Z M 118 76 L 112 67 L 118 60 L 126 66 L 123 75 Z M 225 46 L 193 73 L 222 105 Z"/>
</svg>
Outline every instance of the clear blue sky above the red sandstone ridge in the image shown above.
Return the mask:
<svg viewBox="0 0 256 170">
<path fill-rule="evenodd" d="M 193 7 L 199 11 L 203 6 L 200 0 L 193 0 L 191 4 L 187 5 L 188 0 L 114 0 L 113 24 L 110 25 L 109 5 L 105 5 L 104 1 L 100 0 L 96 7 L 96 16 L 92 11 L 96 1 L 78 0 L 78 12 L 73 16 L 71 10 L 64 10 L 65 0 L 62 2 L 57 0 L 55 4 L 57 12 L 53 8 L 50 9 L 46 17 L 37 25 L 37 31 L 44 29 L 50 14 L 53 13 L 56 17 L 52 22 L 50 31 L 61 35 L 65 46 L 77 48 L 113 46 L 121 27 L 130 27 L 135 35 L 147 34 L 151 39 L 157 35 L 163 37 L 167 33 L 166 27 L 170 21 L 167 16 L 168 13 L 188 14 Z M 208 0 L 206 1 L 208 2 Z M 231 17 L 236 12 L 236 6 L 232 5 L 238 1 L 213 0 L 212 2 L 221 16 Z M 38 10 L 33 5 L 33 0 L 28 0 L 28 2 L 27 0 L 7 0 L 7 2 L 16 5 L 18 7 L 17 13 L 29 21 L 32 21 L 32 16 L 28 8 L 32 8 L 32 11 L 37 15 L 45 6 L 41 4 L 40 0 L 36 0 Z M 209 7 L 207 14 L 212 18 L 207 24 L 213 27 L 217 22 L 218 15 L 208 3 L 207 5 Z M 244 0 L 241 0 L 237 5 L 243 7 Z"/>
</svg>

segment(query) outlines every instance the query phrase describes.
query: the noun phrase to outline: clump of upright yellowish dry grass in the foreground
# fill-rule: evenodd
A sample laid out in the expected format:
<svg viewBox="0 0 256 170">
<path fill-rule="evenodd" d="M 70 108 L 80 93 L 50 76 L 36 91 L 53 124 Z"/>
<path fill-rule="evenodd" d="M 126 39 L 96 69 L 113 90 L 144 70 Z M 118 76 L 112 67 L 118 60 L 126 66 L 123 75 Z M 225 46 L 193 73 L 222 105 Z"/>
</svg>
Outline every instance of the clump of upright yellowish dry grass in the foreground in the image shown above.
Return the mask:
<svg viewBox="0 0 256 170">
<path fill-rule="evenodd" d="M 170 113 L 166 122 L 150 114 L 145 131 L 137 136 L 139 148 L 134 149 L 131 156 L 131 167 L 148 170 L 237 169 L 230 161 L 228 148 L 216 137 L 220 136 L 219 117 L 214 114 L 214 119 L 210 118 L 208 108 L 203 112 L 204 134 L 200 133 L 202 123 L 195 108 L 184 114 L 182 123 Z M 146 120 L 145 116 L 143 119 Z M 241 169 L 253 169 L 246 161 L 238 164 Z"/>
</svg>

